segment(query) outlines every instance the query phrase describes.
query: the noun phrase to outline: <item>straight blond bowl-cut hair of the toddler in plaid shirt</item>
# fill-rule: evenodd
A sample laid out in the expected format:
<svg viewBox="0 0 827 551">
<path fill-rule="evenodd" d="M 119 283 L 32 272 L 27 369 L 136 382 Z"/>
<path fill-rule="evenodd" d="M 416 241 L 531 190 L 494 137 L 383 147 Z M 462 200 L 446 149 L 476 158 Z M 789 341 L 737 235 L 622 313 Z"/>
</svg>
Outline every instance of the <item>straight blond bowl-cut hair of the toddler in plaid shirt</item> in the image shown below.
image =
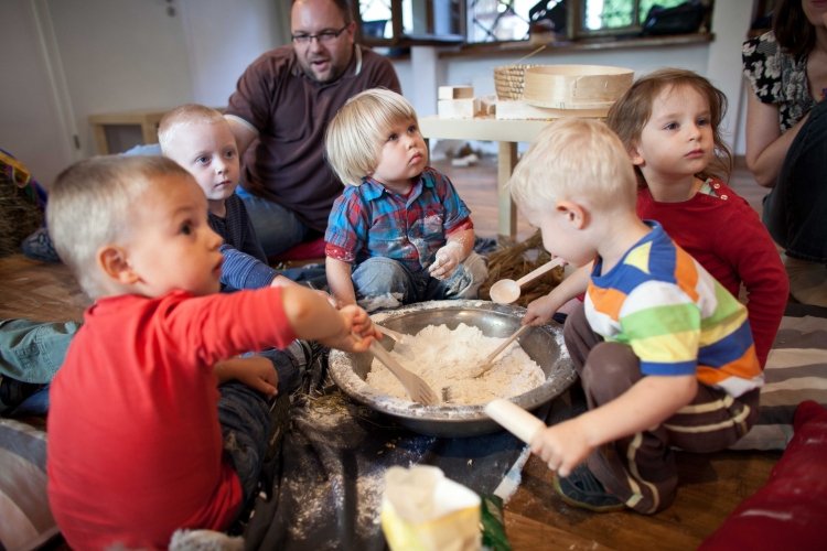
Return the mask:
<svg viewBox="0 0 827 551">
<path fill-rule="evenodd" d="M 376 169 L 388 129 L 399 121 L 417 120 L 417 111 L 399 94 L 373 88 L 353 96 L 327 125 L 325 154 L 345 185 L 361 185 Z"/>
</svg>

